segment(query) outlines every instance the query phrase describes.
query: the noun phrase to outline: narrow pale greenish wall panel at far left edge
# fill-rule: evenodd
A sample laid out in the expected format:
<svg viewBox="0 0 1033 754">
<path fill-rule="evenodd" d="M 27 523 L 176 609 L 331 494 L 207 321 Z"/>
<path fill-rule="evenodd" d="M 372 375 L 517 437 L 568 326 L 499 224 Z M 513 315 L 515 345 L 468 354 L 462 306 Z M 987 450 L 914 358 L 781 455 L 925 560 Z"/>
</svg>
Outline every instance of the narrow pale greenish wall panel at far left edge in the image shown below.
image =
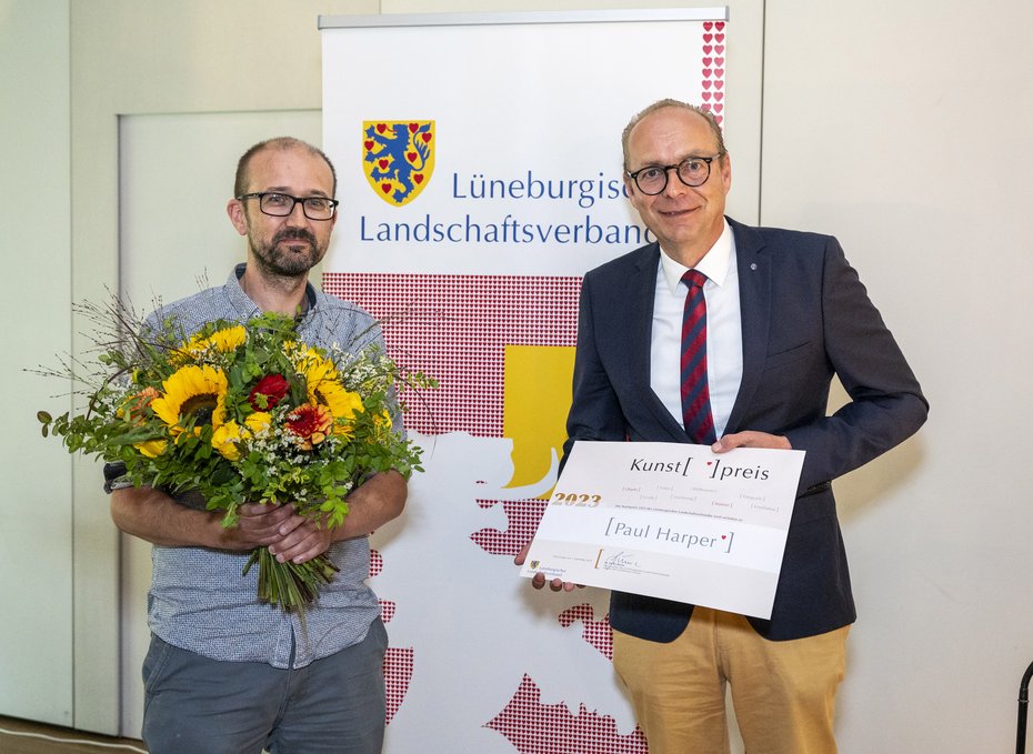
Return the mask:
<svg viewBox="0 0 1033 754">
<path fill-rule="evenodd" d="M 72 463 L 36 412 L 70 382 L 68 0 L 0 0 L 0 712 L 72 722 Z M 113 596 L 113 595 L 112 595 Z M 17 680 L 17 682 L 14 682 Z"/>
</svg>

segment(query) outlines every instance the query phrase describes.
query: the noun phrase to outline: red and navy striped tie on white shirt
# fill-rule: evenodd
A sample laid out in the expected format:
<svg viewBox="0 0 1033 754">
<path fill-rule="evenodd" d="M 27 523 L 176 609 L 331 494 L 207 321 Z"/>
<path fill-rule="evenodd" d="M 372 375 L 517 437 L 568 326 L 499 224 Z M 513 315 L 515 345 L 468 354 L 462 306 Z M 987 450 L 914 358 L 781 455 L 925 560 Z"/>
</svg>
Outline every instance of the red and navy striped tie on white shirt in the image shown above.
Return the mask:
<svg viewBox="0 0 1033 754">
<path fill-rule="evenodd" d="M 692 441 L 710 445 L 716 436 L 706 388 L 706 300 L 703 298 L 706 275 L 689 270 L 682 281 L 689 286 L 682 319 L 682 418 Z"/>
</svg>

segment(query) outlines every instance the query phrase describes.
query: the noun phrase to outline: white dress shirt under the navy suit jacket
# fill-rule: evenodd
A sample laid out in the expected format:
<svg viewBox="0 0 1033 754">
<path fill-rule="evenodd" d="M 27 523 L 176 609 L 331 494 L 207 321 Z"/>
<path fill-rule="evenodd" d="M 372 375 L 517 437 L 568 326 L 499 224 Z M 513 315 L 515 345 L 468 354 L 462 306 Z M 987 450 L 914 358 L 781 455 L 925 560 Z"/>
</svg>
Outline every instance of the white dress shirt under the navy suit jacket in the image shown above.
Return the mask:
<svg viewBox="0 0 1033 754">
<path fill-rule="evenodd" d="M 650 386 L 684 425 L 681 399 L 682 318 L 689 286 L 682 275 L 690 268 L 675 262 L 661 247 L 653 332 L 650 344 Z M 728 222 L 710 251 L 694 268 L 706 275 L 706 383 L 718 438 L 724 434 L 742 382 L 742 318 L 739 308 L 739 268 L 735 237 Z"/>
</svg>

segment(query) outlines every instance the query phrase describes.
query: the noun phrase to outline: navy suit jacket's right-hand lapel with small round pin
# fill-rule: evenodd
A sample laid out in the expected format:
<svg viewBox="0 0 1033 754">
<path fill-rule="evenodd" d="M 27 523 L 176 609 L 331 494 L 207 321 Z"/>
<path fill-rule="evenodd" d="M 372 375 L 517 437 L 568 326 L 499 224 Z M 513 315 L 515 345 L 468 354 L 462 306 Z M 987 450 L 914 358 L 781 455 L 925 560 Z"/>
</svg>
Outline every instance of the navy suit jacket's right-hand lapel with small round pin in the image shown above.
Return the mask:
<svg viewBox="0 0 1033 754">
<path fill-rule="evenodd" d="M 763 374 L 771 325 L 771 260 L 760 253 L 764 248 L 764 239 L 755 229 L 731 219 L 729 224 L 735 234 L 742 316 L 742 382 L 725 428 L 726 433 L 732 433 L 750 429 L 740 426 L 740 423 Z"/>
</svg>

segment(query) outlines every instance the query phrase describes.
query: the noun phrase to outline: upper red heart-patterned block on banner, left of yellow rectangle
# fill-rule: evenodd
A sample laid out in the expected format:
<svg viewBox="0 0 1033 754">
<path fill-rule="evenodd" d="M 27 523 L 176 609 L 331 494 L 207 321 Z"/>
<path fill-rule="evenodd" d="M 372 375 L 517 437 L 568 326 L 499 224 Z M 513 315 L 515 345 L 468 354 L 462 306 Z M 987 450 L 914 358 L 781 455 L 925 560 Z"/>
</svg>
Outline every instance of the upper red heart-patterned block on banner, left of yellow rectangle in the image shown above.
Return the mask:
<svg viewBox="0 0 1033 754">
<path fill-rule="evenodd" d="M 402 368 L 437 378 L 402 392 L 409 429 L 501 438 L 505 346 L 573 346 L 581 279 L 327 273 L 323 291 L 377 318 Z"/>
</svg>

